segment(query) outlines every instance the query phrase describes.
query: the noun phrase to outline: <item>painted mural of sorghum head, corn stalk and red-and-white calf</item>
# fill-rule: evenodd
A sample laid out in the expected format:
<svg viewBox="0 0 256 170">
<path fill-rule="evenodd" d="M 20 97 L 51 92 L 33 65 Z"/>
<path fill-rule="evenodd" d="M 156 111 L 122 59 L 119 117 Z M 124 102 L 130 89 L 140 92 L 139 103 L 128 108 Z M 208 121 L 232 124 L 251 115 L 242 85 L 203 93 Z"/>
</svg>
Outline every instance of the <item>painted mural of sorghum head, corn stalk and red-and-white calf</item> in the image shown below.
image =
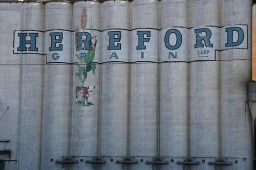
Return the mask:
<svg viewBox="0 0 256 170">
<path fill-rule="evenodd" d="M 86 27 L 88 25 L 90 29 L 90 34 L 92 35 L 94 23 L 92 22 L 92 19 L 88 23 L 87 10 L 86 8 L 83 8 L 82 15 L 81 15 L 80 31 L 85 32 Z M 76 29 L 75 33 L 77 32 L 79 32 L 78 29 Z M 75 41 L 77 41 L 77 37 Z M 76 65 L 78 67 L 75 77 L 81 83 L 81 86 L 76 86 L 76 89 L 75 89 L 76 104 L 81 106 L 93 105 L 93 103 L 89 102 L 88 99 L 91 93 L 93 92 L 93 90 L 95 89 L 95 86 L 86 85 L 85 82 L 89 74 L 95 75 L 96 64 L 94 63 L 94 57 L 95 57 L 96 44 L 97 44 L 97 36 L 92 35 L 92 39 L 90 41 L 90 46 L 92 47 L 92 50 L 86 51 L 85 48 L 82 48 L 82 50 L 79 51 L 79 54 L 75 55 Z"/>
</svg>

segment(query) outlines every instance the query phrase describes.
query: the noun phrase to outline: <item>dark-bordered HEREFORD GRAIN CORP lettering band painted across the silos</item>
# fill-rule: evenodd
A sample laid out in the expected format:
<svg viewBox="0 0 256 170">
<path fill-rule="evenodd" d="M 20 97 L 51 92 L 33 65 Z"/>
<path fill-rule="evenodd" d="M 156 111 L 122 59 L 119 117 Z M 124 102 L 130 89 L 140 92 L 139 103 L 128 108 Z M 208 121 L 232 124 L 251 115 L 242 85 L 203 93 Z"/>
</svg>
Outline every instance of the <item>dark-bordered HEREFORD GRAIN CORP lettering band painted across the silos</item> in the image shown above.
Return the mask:
<svg viewBox="0 0 256 170">
<path fill-rule="evenodd" d="M 109 29 L 91 34 L 90 30 L 24 30 L 14 31 L 13 53 L 47 55 L 48 62 L 71 63 L 71 54 L 92 50 L 92 39 L 97 37 L 96 62 L 216 60 L 216 51 L 247 49 L 247 34 L 247 25 Z"/>
</svg>

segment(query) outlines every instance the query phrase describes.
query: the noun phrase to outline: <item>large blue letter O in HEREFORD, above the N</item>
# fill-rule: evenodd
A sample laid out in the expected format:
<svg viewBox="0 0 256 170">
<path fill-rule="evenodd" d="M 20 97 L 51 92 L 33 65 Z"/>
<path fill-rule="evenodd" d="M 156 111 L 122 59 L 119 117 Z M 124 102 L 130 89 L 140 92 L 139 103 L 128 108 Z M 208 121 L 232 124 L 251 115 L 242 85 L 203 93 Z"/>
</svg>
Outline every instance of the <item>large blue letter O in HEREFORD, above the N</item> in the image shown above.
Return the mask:
<svg viewBox="0 0 256 170">
<path fill-rule="evenodd" d="M 175 45 L 170 45 L 169 43 L 169 38 L 170 38 L 170 34 L 174 33 L 176 35 L 176 44 Z M 164 43 L 166 48 L 168 48 L 169 50 L 176 50 L 181 46 L 181 42 L 182 42 L 182 35 L 179 32 L 179 30 L 176 29 L 170 29 L 165 33 L 164 36 Z"/>
</svg>

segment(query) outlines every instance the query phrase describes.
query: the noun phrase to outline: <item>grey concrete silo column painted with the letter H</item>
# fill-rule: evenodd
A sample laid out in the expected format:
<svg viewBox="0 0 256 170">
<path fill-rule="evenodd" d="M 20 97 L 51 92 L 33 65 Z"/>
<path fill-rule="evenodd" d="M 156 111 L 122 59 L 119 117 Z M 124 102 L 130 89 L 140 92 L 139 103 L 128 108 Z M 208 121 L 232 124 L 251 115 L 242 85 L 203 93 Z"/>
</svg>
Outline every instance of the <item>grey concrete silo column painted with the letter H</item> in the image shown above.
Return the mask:
<svg viewBox="0 0 256 170">
<path fill-rule="evenodd" d="M 44 27 L 44 5 L 23 5 L 22 30 L 40 30 Z M 34 19 L 32 19 L 32 16 Z M 38 47 L 44 42 L 37 43 Z M 20 56 L 21 64 L 44 63 L 43 57 L 31 54 Z M 20 123 L 18 143 L 18 169 L 39 169 L 41 144 L 42 90 L 44 77 L 42 65 L 24 65 L 20 70 Z M 29 148 L 29 154 L 28 154 Z M 23 163 L 27 162 L 27 163 Z"/>
</svg>

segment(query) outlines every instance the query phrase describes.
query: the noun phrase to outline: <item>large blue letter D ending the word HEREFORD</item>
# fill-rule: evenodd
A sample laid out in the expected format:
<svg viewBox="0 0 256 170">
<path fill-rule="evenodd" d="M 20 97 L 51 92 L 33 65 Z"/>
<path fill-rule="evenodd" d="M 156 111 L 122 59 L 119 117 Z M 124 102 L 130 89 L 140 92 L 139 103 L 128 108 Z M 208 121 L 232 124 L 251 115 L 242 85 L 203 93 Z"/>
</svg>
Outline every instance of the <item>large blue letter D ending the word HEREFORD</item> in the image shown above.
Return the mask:
<svg viewBox="0 0 256 170">
<path fill-rule="evenodd" d="M 233 32 L 236 31 L 238 33 L 238 40 L 237 42 L 233 42 Z M 239 27 L 230 27 L 226 28 L 227 32 L 227 43 L 225 46 L 238 46 L 244 41 L 244 32 Z"/>
</svg>

